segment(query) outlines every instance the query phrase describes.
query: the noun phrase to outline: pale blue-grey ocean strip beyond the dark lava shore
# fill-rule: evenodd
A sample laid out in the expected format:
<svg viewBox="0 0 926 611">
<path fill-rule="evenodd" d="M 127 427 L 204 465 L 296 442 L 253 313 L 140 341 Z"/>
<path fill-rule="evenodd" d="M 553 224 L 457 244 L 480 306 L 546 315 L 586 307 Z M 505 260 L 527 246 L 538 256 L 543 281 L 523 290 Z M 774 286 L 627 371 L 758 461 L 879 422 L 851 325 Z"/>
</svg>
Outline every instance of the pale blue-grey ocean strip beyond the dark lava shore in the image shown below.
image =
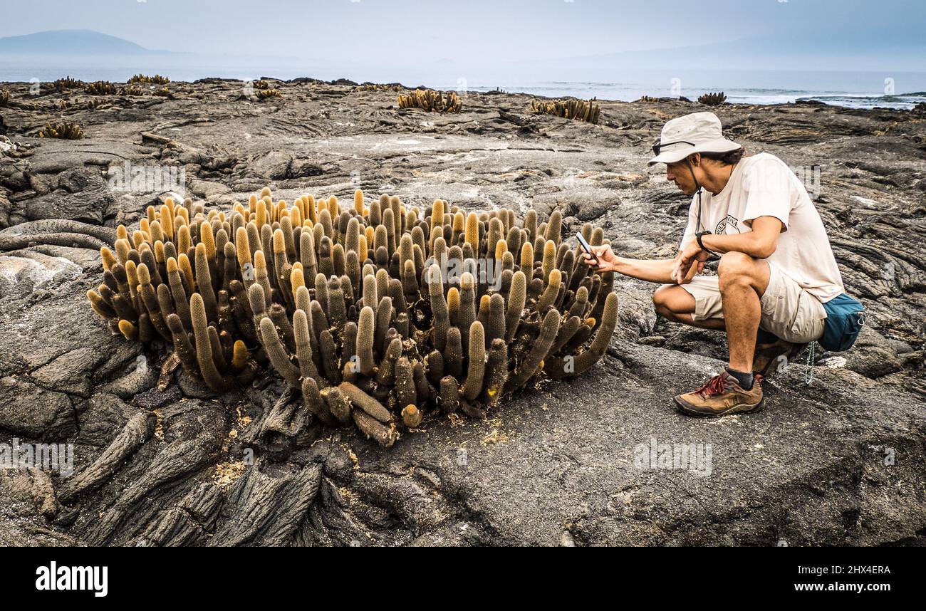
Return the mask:
<svg viewBox="0 0 926 611">
<path fill-rule="evenodd" d="M 926 102 L 926 72 L 885 75 L 881 72 L 820 70 L 666 70 L 666 69 L 583 69 L 569 74 L 571 80 L 535 66 L 463 69 L 431 68 L 358 69 L 332 64 L 308 65 L 292 60 L 220 61 L 206 56 L 177 63 L 152 57 L 125 61 L 23 62 L 0 57 L 0 81 L 54 81 L 69 75 L 82 81 L 126 81 L 131 75 L 163 74 L 172 81 L 195 81 L 206 77 L 250 81 L 260 77 L 282 80 L 314 77 L 325 81 L 346 78 L 364 82 L 401 82 L 409 87 L 427 86 L 460 92 L 486 92 L 501 89 L 509 93 L 544 97 L 574 96 L 632 102 L 644 95 L 697 99 L 700 94 L 724 92 L 732 104 L 788 104 L 797 100 L 817 100 L 851 108 L 910 109 Z M 587 78 L 594 73 L 594 78 Z M 457 76 L 461 75 L 461 76 Z M 599 76 L 600 75 L 600 76 Z M 576 79 L 575 77 L 585 77 Z"/>
</svg>

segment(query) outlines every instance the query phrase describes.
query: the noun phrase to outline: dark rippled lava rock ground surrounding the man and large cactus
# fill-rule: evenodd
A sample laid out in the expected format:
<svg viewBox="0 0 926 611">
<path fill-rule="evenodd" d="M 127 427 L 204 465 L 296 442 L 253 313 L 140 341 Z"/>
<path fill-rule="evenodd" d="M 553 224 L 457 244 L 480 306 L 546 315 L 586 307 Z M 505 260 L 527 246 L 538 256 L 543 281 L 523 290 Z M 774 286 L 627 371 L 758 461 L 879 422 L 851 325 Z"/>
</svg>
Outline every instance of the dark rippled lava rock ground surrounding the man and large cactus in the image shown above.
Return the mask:
<svg viewBox="0 0 926 611">
<path fill-rule="evenodd" d="M 750 152 L 804 173 L 870 312 L 809 384 L 802 364 L 769 380 L 765 411 L 677 414 L 670 397 L 720 368 L 723 337 L 657 319 L 654 287 L 619 279 L 618 332 L 581 378 L 486 420 L 426 418 L 391 450 L 316 426 L 281 451 L 251 434 L 276 375 L 217 396 L 94 315 L 85 293 L 116 225 L 171 181 L 223 208 L 265 185 L 287 201 L 360 188 L 558 208 L 564 236 L 591 222 L 623 254 L 669 257 L 687 201 L 645 161 L 665 120 L 708 108 L 602 101 L 592 125 L 534 115 L 521 94 L 464 94 L 442 115 L 389 88 L 268 81 L 280 95 L 262 101 L 212 79 L 168 95 L 0 83 L 0 443 L 74 444 L 70 477 L 0 468 L 0 544 L 922 544 L 926 114 L 710 108 Z M 83 138 L 35 137 L 60 119 Z M 709 451 L 709 473 L 650 459 L 682 445 Z"/>
</svg>

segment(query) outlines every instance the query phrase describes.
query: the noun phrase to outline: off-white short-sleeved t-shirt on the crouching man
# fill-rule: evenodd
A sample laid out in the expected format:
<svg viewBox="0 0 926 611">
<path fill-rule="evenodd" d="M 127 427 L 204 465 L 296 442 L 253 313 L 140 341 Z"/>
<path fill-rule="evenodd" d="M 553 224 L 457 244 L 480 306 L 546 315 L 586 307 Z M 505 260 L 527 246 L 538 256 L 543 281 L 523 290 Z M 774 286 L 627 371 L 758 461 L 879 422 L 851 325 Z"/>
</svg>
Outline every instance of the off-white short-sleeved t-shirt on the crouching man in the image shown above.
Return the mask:
<svg viewBox="0 0 926 611">
<path fill-rule="evenodd" d="M 820 213 L 804 184 L 778 157 L 768 153 L 744 157 L 720 193 L 703 191 L 701 198 L 701 226 L 697 224 L 695 193 L 680 250 L 694 240 L 698 231 L 745 233 L 752 231 L 754 218 L 778 218 L 782 233 L 778 247 L 766 260 L 821 303 L 845 293 Z"/>
</svg>

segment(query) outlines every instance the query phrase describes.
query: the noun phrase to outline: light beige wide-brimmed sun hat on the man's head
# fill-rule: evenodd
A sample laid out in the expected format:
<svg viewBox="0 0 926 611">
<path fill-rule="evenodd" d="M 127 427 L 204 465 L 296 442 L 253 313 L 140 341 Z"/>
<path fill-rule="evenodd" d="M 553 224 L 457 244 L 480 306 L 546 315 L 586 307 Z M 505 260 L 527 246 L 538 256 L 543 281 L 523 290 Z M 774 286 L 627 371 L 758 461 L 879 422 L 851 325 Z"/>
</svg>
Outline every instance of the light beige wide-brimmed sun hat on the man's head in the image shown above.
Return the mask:
<svg viewBox="0 0 926 611">
<path fill-rule="evenodd" d="M 656 156 L 649 165 L 676 163 L 694 153 L 729 153 L 742 148 L 723 137 L 720 118 L 712 112 L 695 112 L 666 121 L 653 146 Z"/>
</svg>

